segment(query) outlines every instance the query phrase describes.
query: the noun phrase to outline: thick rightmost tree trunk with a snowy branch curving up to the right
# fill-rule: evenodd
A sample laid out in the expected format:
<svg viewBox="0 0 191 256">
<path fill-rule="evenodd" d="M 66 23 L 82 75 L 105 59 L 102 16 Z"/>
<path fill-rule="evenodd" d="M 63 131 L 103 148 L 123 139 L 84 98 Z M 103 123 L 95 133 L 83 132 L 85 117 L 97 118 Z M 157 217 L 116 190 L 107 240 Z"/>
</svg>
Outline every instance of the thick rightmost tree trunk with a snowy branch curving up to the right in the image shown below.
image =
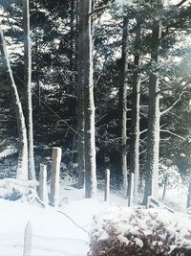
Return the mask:
<svg viewBox="0 0 191 256">
<path fill-rule="evenodd" d="M 184 1 L 176 7 L 179 8 Z M 143 204 L 146 203 L 148 196 L 158 198 L 159 191 L 159 127 L 160 117 L 170 111 L 180 101 L 183 93 L 181 88 L 180 95 L 172 105 L 163 110 L 159 108 L 159 97 L 162 90 L 159 88 L 159 51 L 162 39 L 161 11 L 163 11 L 163 1 L 158 1 L 157 13 L 153 17 L 152 41 L 151 41 L 151 70 L 149 78 L 149 109 L 148 109 L 148 131 L 147 131 L 147 157 L 146 157 L 146 181 Z M 173 26 L 173 24 L 172 24 Z M 176 24 L 174 24 L 176 26 Z M 169 28 L 168 28 L 169 29 Z M 181 82 L 180 82 L 181 84 Z M 182 84 L 181 84 L 182 85 Z M 186 86 L 184 86 L 186 87 Z M 169 90 L 169 88 L 167 89 Z M 166 130 L 165 130 L 166 131 Z M 170 131 L 167 131 L 170 133 Z M 171 133 L 173 134 L 173 133 Z"/>
</svg>

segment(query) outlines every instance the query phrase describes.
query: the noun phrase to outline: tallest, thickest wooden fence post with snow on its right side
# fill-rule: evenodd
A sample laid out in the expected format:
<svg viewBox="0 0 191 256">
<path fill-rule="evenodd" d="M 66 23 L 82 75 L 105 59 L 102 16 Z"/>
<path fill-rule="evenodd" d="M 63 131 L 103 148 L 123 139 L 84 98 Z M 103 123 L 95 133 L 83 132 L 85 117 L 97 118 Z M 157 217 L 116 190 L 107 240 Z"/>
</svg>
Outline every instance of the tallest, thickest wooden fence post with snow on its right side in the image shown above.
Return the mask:
<svg viewBox="0 0 191 256">
<path fill-rule="evenodd" d="M 61 148 L 53 148 L 53 163 L 51 175 L 51 205 L 54 207 L 57 207 L 59 204 L 59 174 L 61 154 Z"/>
</svg>

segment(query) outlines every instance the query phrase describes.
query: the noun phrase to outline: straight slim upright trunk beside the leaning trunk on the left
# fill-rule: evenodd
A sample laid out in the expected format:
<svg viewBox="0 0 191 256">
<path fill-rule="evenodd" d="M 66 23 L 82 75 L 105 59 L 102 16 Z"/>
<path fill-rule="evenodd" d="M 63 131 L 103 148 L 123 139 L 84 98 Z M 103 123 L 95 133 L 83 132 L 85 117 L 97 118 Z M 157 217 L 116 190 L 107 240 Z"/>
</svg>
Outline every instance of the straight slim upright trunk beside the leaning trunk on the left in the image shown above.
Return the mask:
<svg viewBox="0 0 191 256">
<path fill-rule="evenodd" d="M 27 86 L 27 132 L 28 132 L 28 164 L 29 177 L 35 180 L 35 167 L 33 158 L 33 124 L 32 124 L 32 52 L 30 35 L 30 0 L 23 0 L 23 23 L 24 23 L 24 82 Z"/>
</svg>

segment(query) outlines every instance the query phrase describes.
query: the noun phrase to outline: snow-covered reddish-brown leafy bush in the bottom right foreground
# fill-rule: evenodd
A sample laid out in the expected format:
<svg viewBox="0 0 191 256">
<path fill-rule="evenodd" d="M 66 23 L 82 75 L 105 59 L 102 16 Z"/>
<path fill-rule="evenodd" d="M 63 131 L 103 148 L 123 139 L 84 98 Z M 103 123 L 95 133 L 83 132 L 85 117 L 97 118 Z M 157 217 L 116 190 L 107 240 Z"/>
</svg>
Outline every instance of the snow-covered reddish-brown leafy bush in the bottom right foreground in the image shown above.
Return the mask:
<svg viewBox="0 0 191 256">
<path fill-rule="evenodd" d="M 94 221 L 91 256 L 191 255 L 191 216 L 117 208 Z"/>
</svg>

